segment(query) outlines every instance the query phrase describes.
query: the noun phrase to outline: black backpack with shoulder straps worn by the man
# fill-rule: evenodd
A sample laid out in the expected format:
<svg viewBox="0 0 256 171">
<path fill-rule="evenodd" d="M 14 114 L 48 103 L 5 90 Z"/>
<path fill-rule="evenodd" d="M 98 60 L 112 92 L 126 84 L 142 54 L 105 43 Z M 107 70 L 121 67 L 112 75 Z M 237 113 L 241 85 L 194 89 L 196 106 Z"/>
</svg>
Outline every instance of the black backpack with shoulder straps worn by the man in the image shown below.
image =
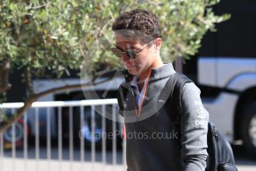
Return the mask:
<svg viewBox="0 0 256 171">
<path fill-rule="evenodd" d="M 159 97 L 167 99 L 164 107 L 167 109 L 168 114 L 170 114 L 172 106 L 174 106 L 172 109 L 176 110 L 176 112 L 172 112 L 174 115 L 170 114 L 169 116 L 173 121 L 176 131 L 179 133 L 178 135 L 180 135 L 179 115 L 181 114 L 181 105 L 179 103 L 181 103 L 182 89 L 186 83 L 193 82 L 184 74 L 176 72 L 167 80 L 163 88 L 164 91 L 161 91 L 159 95 Z M 165 92 L 168 88 L 171 91 L 170 94 Z M 127 88 L 120 86 L 118 90 L 118 105 L 121 110 L 124 109 L 124 102 L 121 99 L 124 100 L 126 94 Z M 230 144 L 211 121 L 208 123 L 207 143 L 207 171 L 237 171 L 237 168 L 234 166 L 234 155 Z"/>
</svg>

